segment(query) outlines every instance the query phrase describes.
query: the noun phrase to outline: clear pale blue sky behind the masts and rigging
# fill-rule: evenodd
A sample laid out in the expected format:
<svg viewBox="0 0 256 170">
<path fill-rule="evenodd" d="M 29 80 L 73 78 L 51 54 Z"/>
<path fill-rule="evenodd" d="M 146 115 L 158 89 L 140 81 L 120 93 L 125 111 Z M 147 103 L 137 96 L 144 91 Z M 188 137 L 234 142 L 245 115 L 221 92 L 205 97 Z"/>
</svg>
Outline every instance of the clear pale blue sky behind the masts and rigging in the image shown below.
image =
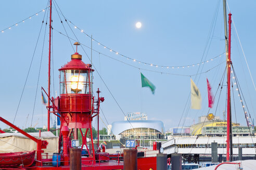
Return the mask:
<svg viewBox="0 0 256 170">
<path fill-rule="evenodd" d="M 220 2 L 220 3 L 219 3 Z M 252 77 L 256 76 L 255 59 L 255 1 L 227 1 L 234 17 L 236 29 L 239 34 L 241 44 L 249 63 Z M 85 33 L 93 37 L 105 46 L 128 56 L 146 63 L 166 66 L 182 66 L 199 63 L 201 59 L 208 60 L 224 52 L 224 26 L 223 26 L 223 7 L 222 1 L 57 1 L 63 15 L 72 23 L 84 30 Z M 219 5 L 217 5 L 219 3 Z M 41 11 L 47 6 L 47 1 L 2 1 L 0 7 L 0 31 L 8 28 L 23 19 Z M 215 10 L 217 12 L 215 12 Z M 23 84 L 28 73 L 32 55 L 35 49 L 37 36 L 44 14 L 40 12 L 37 16 L 19 23 L 7 29 L 4 33 L 0 32 L 0 76 L 2 83 L 0 99 L 0 116 L 12 122 L 16 114 L 19 98 Z M 214 15 L 216 20 L 214 20 Z M 60 14 L 61 15 L 61 14 Z M 61 16 L 62 20 L 63 17 Z M 142 22 L 142 28 L 136 29 L 135 23 Z M 210 34 L 211 23 L 213 32 Z M 63 20 L 63 25 L 68 35 L 74 38 L 72 31 L 79 38 L 80 42 L 91 46 L 91 39 L 82 34 L 78 29 L 70 24 L 72 31 Z M 233 25 L 232 25 L 233 26 Z M 70 55 L 74 53 L 67 37 L 58 33 L 65 34 L 65 30 L 60 23 L 60 19 L 53 6 L 53 58 L 54 58 L 54 80 L 52 89 L 59 92 L 58 68 L 70 61 Z M 31 124 L 33 105 L 36 93 L 37 77 L 39 75 L 40 60 L 43 48 L 42 34 L 37 45 L 31 71 L 28 77 L 27 86 L 22 96 L 22 100 L 17 112 L 15 124 L 20 127 L 28 127 Z M 41 127 L 46 125 L 46 108 L 41 103 L 41 87 L 47 89 L 47 61 L 48 61 L 48 25 L 44 44 L 42 67 L 39 79 L 39 88 L 34 109 L 32 126 Z M 203 55 L 204 48 L 209 40 L 206 53 Z M 71 40 L 73 44 L 74 41 Z M 209 46 L 210 45 L 210 46 Z M 85 52 L 90 56 L 91 51 L 84 47 Z M 93 42 L 93 49 L 100 53 L 107 54 L 114 59 L 124 63 L 143 68 L 170 74 L 194 75 L 197 73 L 198 66 L 186 68 L 161 68 L 151 67 L 132 60 L 121 58 L 113 52 L 99 46 Z M 85 52 L 79 47 L 79 52 L 83 55 L 83 61 L 89 63 Z M 186 117 L 182 113 L 190 93 L 189 76 L 175 76 L 149 72 L 123 64 L 119 61 L 107 58 L 102 54 L 93 52 L 93 63 L 106 82 L 113 96 L 118 101 L 120 107 L 126 114 L 127 112 L 146 112 L 149 120 L 161 120 L 165 125 L 165 130 L 170 127 L 180 125 L 190 125 L 197 122 L 199 116 L 206 115 L 208 112 L 207 83 L 208 77 L 213 93 L 216 92 L 220 83 L 222 73 L 225 69 L 225 56 L 204 63 L 202 72 L 217 66 L 207 74 L 200 77 L 191 78 L 197 83 L 202 95 L 202 109 L 185 109 Z M 252 118 L 256 118 L 254 104 L 256 102 L 255 90 L 250 79 L 244 56 L 235 34 L 232 29 L 232 61 L 235 71 L 246 98 L 246 102 Z M 140 72 L 142 72 L 157 87 L 155 95 L 152 95 L 148 88 L 141 88 Z M 201 69 L 199 70 L 199 73 Z M 255 80 L 256 81 L 256 80 Z M 114 102 L 104 83 L 100 80 L 97 73 L 94 73 L 94 91 L 100 88 L 101 96 L 105 97 L 105 102 L 101 104 L 103 112 L 111 124 L 113 121 L 123 120 L 124 115 Z M 218 107 L 217 100 L 210 112 L 216 112 L 216 116 L 222 118 L 225 110 L 225 90 L 221 94 Z M 235 89 L 234 89 L 235 90 Z M 53 94 L 54 91 L 52 91 Z M 219 94 L 219 93 L 217 93 Z M 218 96 L 218 95 L 217 95 Z M 233 111 L 233 120 L 237 118 L 238 123 L 246 125 L 246 120 L 238 93 L 235 90 L 236 116 Z M 233 99 L 232 99 L 233 100 Z M 190 101 L 190 100 L 189 100 Z M 233 101 L 232 101 L 233 103 Z M 254 108 L 253 108 L 254 107 Z M 215 111 L 216 110 L 216 111 Z M 26 118 L 28 122 L 26 124 Z M 101 117 L 103 115 L 101 114 Z M 104 119 L 105 123 L 106 120 Z M 107 123 L 106 123 L 107 124 Z M 100 127 L 104 124 L 100 122 Z M 0 123 L 0 127 L 6 125 Z"/>
</svg>

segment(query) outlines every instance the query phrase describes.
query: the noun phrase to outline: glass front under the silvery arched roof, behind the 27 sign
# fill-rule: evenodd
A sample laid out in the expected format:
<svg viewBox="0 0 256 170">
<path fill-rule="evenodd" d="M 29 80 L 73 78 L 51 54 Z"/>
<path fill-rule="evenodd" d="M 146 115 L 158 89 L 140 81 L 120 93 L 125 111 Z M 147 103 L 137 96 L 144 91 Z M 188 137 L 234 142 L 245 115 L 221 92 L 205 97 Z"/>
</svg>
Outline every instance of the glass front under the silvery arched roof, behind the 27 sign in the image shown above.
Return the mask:
<svg viewBox="0 0 256 170">
<path fill-rule="evenodd" d="M 128 129 L 120 133 L 121 138 L 125 139 L 163 139 L 164 136 L 161 132 L 150 128 L 135 128 Z"/>
</svg>

